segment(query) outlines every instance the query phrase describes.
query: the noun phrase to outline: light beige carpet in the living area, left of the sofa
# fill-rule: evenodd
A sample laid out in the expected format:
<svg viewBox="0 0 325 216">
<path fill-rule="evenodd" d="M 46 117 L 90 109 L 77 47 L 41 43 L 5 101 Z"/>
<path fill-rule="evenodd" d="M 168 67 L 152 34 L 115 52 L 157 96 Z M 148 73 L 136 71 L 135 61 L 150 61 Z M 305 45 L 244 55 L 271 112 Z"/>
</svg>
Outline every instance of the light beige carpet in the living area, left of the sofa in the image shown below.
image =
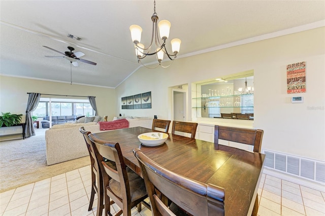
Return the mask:
<svg viewBox="0 0 325 216">
<path fill-rule="evenodd" d="M 87 156 L 48 166 L 45 146 L 44 135 L 0 142 L 0 192 L 90 164 Z"/>
</svg>

